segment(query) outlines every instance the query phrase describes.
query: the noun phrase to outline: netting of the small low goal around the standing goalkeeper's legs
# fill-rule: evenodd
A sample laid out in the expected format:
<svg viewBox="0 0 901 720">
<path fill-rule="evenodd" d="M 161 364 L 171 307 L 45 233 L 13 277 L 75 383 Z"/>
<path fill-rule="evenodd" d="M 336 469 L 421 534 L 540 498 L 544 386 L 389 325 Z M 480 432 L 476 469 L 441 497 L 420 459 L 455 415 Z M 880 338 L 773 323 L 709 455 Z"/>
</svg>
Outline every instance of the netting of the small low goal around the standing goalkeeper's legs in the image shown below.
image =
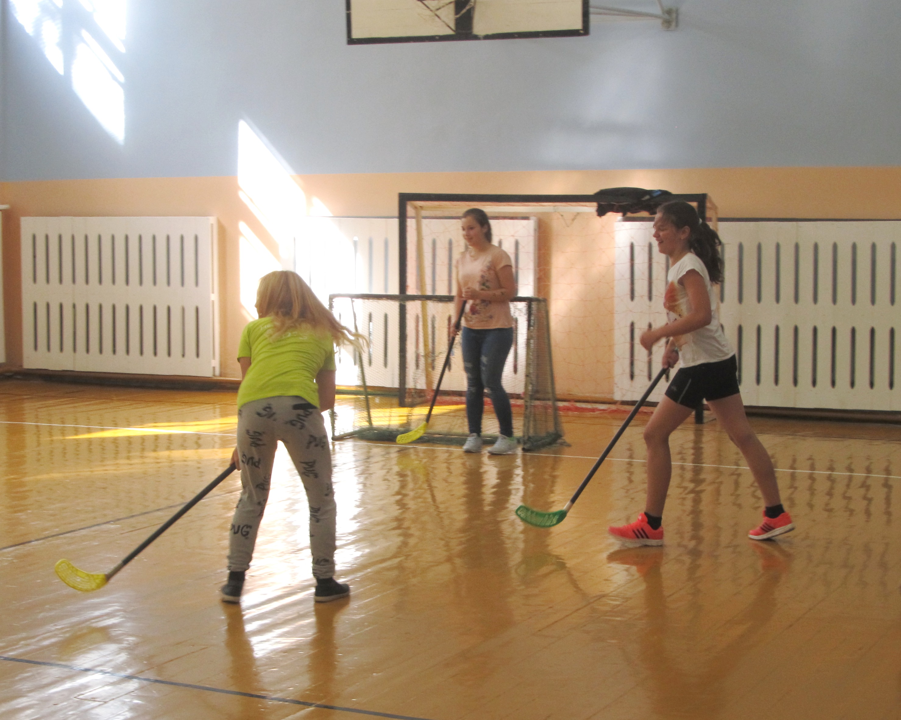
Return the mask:
<svg viewBox="0 0 901 720">
<path fill-rule="evenodd" d="M 503 385 L 514 411 L 514 434 L 524 450 L 560 441 L 562 430 L 554 391 L 547 301 L 516 297 L 510 303 L 514 342 Z M 358 391 L 352 404 L 332 413 L 332 437 L 393 441 L 425 421 L 441 368 L 451 346 L 454 317 L 450 295 L 332 295 L 332 312 L 355 327 L 368 346 L 362 353 L 341 351 L 338 384 Z M 466 374 L 460 338 L 453 343 L 428 430 L 420 442 L 462 444 L 466 417 Z M 498 431 L 489 397 L 482 436 Z"/>
</svg>

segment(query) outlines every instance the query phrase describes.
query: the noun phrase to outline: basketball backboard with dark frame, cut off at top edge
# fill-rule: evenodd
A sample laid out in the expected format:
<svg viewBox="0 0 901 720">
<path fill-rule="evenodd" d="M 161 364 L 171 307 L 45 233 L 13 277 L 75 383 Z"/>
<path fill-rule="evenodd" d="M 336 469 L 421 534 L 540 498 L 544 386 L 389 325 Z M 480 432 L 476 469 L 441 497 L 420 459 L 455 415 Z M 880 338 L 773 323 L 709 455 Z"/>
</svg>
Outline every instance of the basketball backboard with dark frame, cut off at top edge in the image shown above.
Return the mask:
<svg viewBox="0 0 901 720">
<path fill-rule="evenodd" d="M 588 0 L 346 0 L 348 44 L 588 34 Z"/>
</svg>

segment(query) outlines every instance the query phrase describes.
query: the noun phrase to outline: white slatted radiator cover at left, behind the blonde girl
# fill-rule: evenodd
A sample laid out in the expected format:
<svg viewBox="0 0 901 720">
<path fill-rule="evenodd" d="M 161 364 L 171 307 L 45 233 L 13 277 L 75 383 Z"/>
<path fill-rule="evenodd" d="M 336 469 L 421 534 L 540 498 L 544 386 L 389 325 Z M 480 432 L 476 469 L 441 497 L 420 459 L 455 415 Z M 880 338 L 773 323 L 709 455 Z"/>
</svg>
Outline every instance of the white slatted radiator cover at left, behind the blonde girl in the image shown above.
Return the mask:
<svg viewBox="0 0 901 720">
<path fill-rule="evenodd" d="M 25 368 L 219 375 L 214 217 L 23 217 Z"/>
</svg>

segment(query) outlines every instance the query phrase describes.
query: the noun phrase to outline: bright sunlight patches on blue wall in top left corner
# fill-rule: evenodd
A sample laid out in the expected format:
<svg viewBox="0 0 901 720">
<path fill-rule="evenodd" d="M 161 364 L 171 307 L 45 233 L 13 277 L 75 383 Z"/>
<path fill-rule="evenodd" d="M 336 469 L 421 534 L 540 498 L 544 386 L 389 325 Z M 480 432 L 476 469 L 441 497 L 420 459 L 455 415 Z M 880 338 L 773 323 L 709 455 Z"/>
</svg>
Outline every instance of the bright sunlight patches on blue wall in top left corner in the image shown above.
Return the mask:
<svg viewBox="0 0 901 720">
<path fill-rule="evenodd" d="M 125 0 L 10 0 L 10 7 L 96 121 L 123 144 L 125 77 L 107 50 L 125 52 Z M 85 11 L 103 31 L 99 40 L 81 28 Z"/>
</svg>

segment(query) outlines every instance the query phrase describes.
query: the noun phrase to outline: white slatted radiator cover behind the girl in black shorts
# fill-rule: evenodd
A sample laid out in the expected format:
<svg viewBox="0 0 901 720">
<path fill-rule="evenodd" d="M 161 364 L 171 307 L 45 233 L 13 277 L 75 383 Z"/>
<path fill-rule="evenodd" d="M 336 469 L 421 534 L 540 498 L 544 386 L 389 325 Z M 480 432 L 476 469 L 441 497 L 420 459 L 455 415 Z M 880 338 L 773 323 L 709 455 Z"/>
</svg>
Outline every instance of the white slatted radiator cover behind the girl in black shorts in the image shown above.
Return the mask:
<svg viewBox="0 0 901 720">
<path fill-rule="evenodd" d="M 720 320 L 746 405 L 901 410 L 901 222 L 722 222 L 720 235 Z M 617 223 L 617 399 L 647 387 L 638 337 L 665 322 L 656 250 L 651 223 Z"/>
</svg>

